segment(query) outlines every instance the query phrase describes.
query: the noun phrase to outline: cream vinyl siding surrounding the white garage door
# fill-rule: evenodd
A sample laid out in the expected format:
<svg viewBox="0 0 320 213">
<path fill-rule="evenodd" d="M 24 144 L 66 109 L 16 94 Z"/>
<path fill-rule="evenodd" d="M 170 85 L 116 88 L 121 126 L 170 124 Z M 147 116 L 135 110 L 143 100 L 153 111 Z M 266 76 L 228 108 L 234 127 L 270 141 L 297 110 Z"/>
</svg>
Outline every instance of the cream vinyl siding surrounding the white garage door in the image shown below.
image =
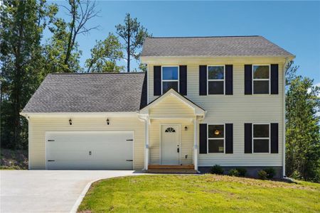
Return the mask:
<svg viewBox="0 0 320 213">
<path fill-rule="evenodd" d="M 144 122 L 137 117 L 31 117 L 29 121 L 29 163 L 30 169 L 46 168 L 46 131 L 134 131 L 134 169 L 144 167 Z"/>
</svg>

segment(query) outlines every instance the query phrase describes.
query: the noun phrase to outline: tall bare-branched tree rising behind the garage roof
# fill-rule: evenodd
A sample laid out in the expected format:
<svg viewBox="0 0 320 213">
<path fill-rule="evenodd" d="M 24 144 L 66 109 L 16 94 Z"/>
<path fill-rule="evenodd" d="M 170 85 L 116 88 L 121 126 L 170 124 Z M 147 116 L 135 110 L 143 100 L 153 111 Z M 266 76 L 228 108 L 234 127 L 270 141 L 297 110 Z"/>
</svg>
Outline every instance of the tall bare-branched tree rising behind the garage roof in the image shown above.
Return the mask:
<svg viewBox="0 0 320 213">
<path fill-rule="evenodd" d="M 80 34 L 89 33 L 91 30 L 98 28 L 98 26 L 87 28 L 86 23 L 92 18 L 98 16 L 99 11 L 95 11 L 95 1 L 69 0 L 68 3 L 70 8 L 62 6 L 68 11 L 68 14 L 71 18 L 70 23 L 68 23 L 68 31 L 66 32 L 68 38 L 63 63 L 66 67 L 68 67 L 65 69 L 65 72 L 74 72 L 75 70 L 70 69 L 70 58 L 72 58 L 73 50 L 77 48 L 76 38 Z M 63 26 L 63 31 L 66 31 L 65 26 Z"/>
</svg>

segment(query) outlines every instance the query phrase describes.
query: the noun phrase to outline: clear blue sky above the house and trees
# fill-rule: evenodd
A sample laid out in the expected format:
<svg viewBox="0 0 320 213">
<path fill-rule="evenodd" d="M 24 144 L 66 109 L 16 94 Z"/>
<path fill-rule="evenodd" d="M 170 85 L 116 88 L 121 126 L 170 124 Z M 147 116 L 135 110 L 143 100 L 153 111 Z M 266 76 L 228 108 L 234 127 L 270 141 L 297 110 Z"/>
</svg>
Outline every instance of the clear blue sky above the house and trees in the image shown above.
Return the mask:
<svg viewBox="0 0 320 213">
<path fill-rule="evenodd" d="M 97 6 L 100 17 L 87 26 L 100 25 L 100 30 L 78 37 L 81 64 L 90 58 L 95 40 L 114 33 L 131 13 L 154 36 L 265 36 L 297 56 L 300 75 L 320 83 L 319 1 L 97 1 Z M 63 9 L 59 15 L 68 18 Z"/>
</svg>

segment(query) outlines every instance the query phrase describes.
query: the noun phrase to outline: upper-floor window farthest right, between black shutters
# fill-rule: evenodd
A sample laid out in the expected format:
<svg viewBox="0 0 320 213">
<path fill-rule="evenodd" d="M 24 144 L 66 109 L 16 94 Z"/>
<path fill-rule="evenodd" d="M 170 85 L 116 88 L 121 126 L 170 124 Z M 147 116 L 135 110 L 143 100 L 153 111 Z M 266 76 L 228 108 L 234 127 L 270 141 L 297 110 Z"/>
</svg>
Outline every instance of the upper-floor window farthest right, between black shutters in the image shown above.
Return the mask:
<svg viewBox="0 0 320 213">
<path fill-rule="evenodd" d="M 270 94 L 270 65 L 252 66 L 253 94 Z"/>
</svg>

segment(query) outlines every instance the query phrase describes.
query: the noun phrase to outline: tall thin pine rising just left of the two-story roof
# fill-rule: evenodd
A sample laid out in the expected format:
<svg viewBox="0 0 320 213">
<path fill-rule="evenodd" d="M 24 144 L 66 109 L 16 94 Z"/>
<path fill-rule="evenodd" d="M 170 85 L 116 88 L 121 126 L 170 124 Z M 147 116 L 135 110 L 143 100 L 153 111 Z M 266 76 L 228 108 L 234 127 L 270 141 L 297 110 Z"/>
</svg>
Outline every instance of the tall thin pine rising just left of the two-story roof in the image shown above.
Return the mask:
<svg viewBox="0 0 320 213">
<path fill-rule="evenodd" d="M 131 18 L 130 14 L 127 13 L 124 18 L 124 25 L 119 24 L 115 26 L 117 29 L 117 35 L 124 40 L 124 47 L 127 53 L 127 72 L 130 72 L 130 57 L 138 60 L 141 53 L 138 51 L 142 48 L 144 39 L 151 36 L 147 32 L 144 26 L 141 26 L 137 21 L 137 18 Z"/>
</svg>

